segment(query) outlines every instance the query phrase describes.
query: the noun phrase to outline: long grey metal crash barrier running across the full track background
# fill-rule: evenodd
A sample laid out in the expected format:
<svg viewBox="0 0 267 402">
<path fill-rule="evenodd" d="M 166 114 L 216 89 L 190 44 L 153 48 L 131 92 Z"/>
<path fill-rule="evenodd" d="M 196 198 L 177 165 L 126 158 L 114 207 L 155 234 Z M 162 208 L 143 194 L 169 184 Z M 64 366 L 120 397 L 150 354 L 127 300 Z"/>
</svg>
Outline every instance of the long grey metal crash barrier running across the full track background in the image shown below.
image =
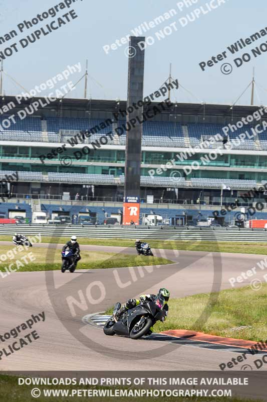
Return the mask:
<svg viewBox="0 0 267 402">
<path fill-rule="evenodd" d="M 41 233 L 42 236 L 64 236 L 99 238 L 99 239 L 159 239 L 159 240 L 201 240 L 201 241 L 240 241 L 265 242 L 267 231 L 264 229 L 203 228 L 203 227 L 148 227 L 148 226 L 84 226 L 81 225 L 0 225 L 1 235 L 13 235 L 14 232 L 26 235 Z M 201 237 L 200 237 L 201 236 Z"/>
</svg>

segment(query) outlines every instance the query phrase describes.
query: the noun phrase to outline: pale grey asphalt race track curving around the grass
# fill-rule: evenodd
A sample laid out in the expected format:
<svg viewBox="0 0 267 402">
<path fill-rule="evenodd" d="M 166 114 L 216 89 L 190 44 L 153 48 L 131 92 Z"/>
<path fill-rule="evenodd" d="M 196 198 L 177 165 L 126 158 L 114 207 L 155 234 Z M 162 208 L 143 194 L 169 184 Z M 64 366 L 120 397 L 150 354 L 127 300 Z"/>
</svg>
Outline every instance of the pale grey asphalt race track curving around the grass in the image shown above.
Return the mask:
<svg viewBox="0 0 267 402">
<path fill-rule="evenodd" d="M 10 242 L 1 242 L 9 244 Z M 35 247 L 35 246 L 34 246 Z M 34 252 L 34 247 L 31 251 Z M 61 245 L 40 244 L 44 261 Z M 81 246 L 82 250 L 135 253 L 134 248 Z M 108 337 L 99 328 L 85 325 L 87 314 L 103 312 L 117 301 L 167 287 L 172 297 L 230 288 L 230 277 L 251 269 L 265 256 L 198 251 L 153 250 L 174 261 L 152 268 L 119 268 L 15 272 L 0 281 L 1 334 L 45 312 L 45 322 L 34 324 L 40 338 L 0 360 L 1 370 L 218 370 L 236 353 L 216 348 L 168 341 Z M 256 278 L 262 279 L 264 271 Z M 237 286 L 244 286 L 244 280 Z M 76 300 L 76 302 L 74 302 Z M 182 314 L 182 312 L 181 312 Z M 24 331 L 25 335 L 30 331 Z M 10 342 L 7 342 L 10 343 Z M 5 343 L 1 343 L 3 348 Z M 252 365 L 254 356 L 248 355 Z M 262 367 L 264 369 L 264 365 Z M 233 368 L 232 370 L 234 370 Z M 236 366 L 240 369 L 240 365 Z"/>
</svg>

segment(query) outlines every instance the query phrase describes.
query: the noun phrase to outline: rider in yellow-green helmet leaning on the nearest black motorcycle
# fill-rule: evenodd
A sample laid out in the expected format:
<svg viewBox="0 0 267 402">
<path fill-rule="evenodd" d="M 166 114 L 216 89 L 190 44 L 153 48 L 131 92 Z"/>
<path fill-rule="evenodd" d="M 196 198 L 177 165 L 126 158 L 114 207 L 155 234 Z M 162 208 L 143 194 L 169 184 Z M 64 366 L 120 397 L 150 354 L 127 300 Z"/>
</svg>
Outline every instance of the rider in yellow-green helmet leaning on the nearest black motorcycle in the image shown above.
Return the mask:
<svg viewBox="0 0 267 402">
<path fill-rule="evenodd" d="M 158 291 L 158 294 L 142 294 L 139 297 L 139 300 L 135 298 L 129 298 L 125 305 L 120 310 L 118 310 L 115 318 L 116 320 L 119 320 L 123 313 L 125 313 L 127 310 L 133 309 L 134 307 L 138 306 L 140 302 L 145 302 L 146 300 L 150 299 L 153 300 L 153 302 L 162 309 L 161 321 L 164 322 L 169 312 L 169 306 L 167 305 L 169 298 L 170 292 L 165 287 L 161 287 Z M 152 332 L 153 328 L 150 328 L 150 333 Z"/>
</svg>

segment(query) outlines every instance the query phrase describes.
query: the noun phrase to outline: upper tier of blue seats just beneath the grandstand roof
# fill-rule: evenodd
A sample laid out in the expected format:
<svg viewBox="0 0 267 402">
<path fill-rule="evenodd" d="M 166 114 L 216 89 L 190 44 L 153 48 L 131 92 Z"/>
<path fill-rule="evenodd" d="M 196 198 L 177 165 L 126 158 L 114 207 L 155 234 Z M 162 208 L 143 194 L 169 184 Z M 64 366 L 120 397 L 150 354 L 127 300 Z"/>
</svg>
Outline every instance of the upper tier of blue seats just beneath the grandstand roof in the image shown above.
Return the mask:
<svg viewBox="0 0 267 402">
<path fill-rule="evenodd" d="M 5 119 L 5 116 L 0 116 L 0 123 Z M 59 137 L 60 130 L 88 130 L 93 127 L 99 127 L 98 134 L 95 138 L 103 134 L 107 134 L 112 130 L 112 126 L 109 125 L 100 129 L 100 123 L 104 122 L 104 119 L 85 119 L 85 118 L 56 118 L 50 117 L 45 121 L 47 126 L 48 135 L 42 134 L 42 121 L 37 117 L 27 117 L 24 120 L 17 120 L 17 124 L 11 124 L 11 127 L 3 132 L 0 132 L 0 140 L 14 140 L 14 141 L 49 141 L 60 142 L 62 139 Z M 125 121 L 118 121 L 118 126 L 124 124 Z M 235 139 L 240 133 L 245 130 L 249 130 L 250 127 L 244 126 L 242 129 L 237 129 L 234 132 L 229 131 L 228 135 L 230 139 Z M 187 132 L 189 136 L 189 142 L 187 138 Z M 184 124 L 175 122 L 152 122 L 147 121 L 143 123 L 143 146 L 155 146 L 155 147 L 186 147 L 198 145 L 202 136 L 213 136 L 220 134 L 223 136 L 222 125 L 219 124 Z M 65 134 L 64 142 L 69 136 L 73 134 Z M 66 137 L 67 136 L 67 137 Z M 95 138 L 91 137 L 91 140 Z M 255 144 L 254 139 L 245 139 L 239 145 L 234 145 L 234 149 L 267 149 L 267 133 L 263 132 L 258 135 L 259 143 Z M 188 139 L 188 138 L 187 138 Z M 118 145 L 125 145 L 126 136 L 123 134 L 114 142 L 109 139 L 108 143 L 115 143 Z"/>
</svg>

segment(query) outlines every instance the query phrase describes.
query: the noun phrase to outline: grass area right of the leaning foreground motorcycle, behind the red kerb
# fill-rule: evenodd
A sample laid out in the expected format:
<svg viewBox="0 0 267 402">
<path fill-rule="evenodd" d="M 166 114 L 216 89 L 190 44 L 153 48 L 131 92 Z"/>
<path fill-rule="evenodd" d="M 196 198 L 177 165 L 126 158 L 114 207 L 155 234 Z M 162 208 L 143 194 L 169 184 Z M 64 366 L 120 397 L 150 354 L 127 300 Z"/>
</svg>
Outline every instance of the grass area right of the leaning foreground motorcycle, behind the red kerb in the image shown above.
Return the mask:
<svg viewBox="0 0 267 402">
<path fill-rule="evenodd" d="M 250 286 L 202 293 L 169 300 L 169 314 L 164 323 L 154 325 L 155 332 L 191 330 L 206 334 L 265 341 L 267 339 L 267 284 L 255 291 Z M 199 322 L 207 309 L 207 319 Z M 112 314 L 113 308 L 106 314 Z M 238 330 L 237 327 L 247 328 Z"/>
</svg>

